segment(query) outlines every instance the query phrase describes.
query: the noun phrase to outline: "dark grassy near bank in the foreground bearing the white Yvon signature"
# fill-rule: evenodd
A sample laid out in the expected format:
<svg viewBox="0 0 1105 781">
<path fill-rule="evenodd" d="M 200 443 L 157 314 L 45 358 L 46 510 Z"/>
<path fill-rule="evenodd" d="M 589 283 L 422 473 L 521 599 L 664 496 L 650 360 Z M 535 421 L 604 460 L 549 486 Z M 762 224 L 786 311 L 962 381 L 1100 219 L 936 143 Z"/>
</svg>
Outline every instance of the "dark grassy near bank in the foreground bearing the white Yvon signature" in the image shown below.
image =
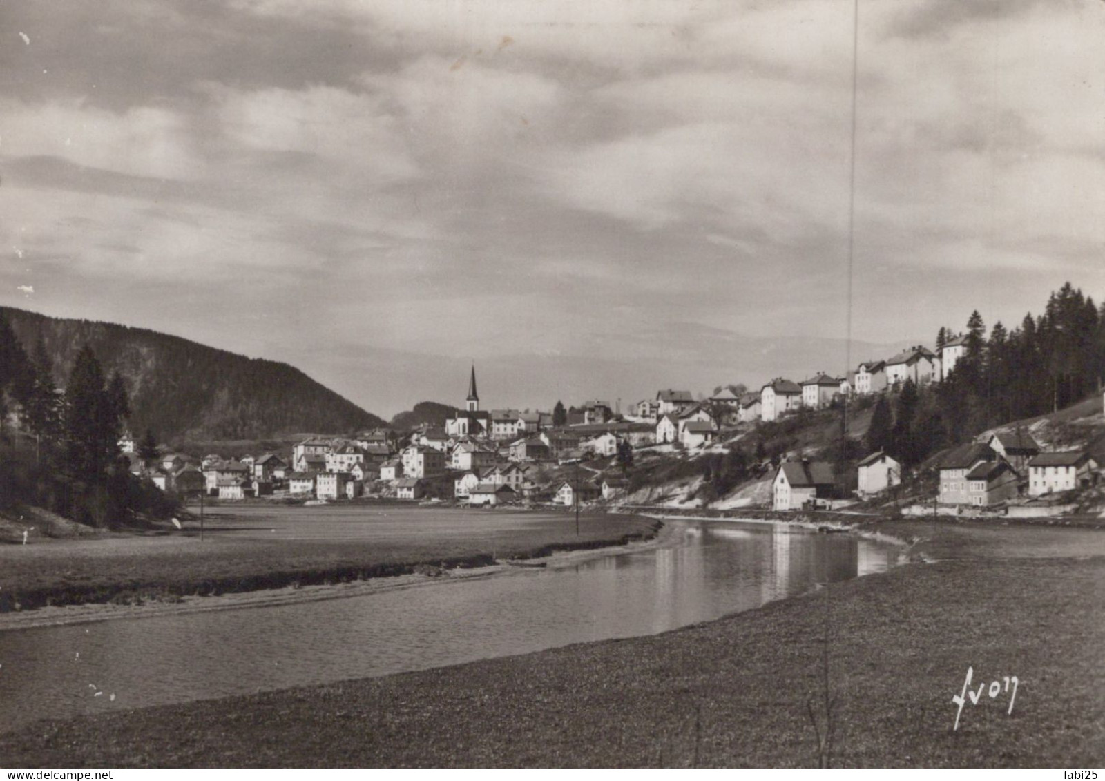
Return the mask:
<svg viewBox="0 0 1105 781">
<path fill-rule="evenodd" d="M 887 524 L 939 561 L 834 584 L 833 764 L 1105 757 L 1105 535 Z M 663 635 L 385 678 L 44 721 L 20 766 L 817 764 L 824 593 Z M 968 699 L 1018 676 L 1009 695 Z"/>
</svg>

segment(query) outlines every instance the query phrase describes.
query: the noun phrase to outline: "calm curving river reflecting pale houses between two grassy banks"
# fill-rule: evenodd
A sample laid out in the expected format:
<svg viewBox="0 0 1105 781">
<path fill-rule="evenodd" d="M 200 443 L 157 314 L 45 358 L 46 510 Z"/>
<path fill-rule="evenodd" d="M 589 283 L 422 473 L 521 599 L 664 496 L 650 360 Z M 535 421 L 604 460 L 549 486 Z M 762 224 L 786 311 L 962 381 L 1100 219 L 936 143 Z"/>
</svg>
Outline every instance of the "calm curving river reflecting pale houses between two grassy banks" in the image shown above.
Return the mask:
<svg viewBox="0 0 1105 781">
<path fill-rule="evenodd" d="M 850 535 L 670 523 L 678 530 L 670 546 L 567 569 L 519 569 L 302 604 L 0 632 L 0 730 L 43 717 L 654 634 L 757 608 L 827 579 L 882 571 L 898 556 L 893 546 Z"/>
</svg>

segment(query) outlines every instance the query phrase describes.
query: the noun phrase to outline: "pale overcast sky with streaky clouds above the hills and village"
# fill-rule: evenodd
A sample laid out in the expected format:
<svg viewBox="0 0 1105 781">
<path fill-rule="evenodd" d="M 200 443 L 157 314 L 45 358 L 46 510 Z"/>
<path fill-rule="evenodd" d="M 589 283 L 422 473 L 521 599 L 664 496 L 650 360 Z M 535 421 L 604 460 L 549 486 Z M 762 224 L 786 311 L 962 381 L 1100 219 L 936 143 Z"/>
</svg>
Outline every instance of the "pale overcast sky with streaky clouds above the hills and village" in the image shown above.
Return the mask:
<svg viewBox="0 0 1105 781">
<path fill-rule="evenodd" d="M 800 380 L 1105 294 L 1105 2 L 0 4 L 0 304 L 366 409 Z M 484 379 L 487 378 L 487 379 Z"/>
</svg>

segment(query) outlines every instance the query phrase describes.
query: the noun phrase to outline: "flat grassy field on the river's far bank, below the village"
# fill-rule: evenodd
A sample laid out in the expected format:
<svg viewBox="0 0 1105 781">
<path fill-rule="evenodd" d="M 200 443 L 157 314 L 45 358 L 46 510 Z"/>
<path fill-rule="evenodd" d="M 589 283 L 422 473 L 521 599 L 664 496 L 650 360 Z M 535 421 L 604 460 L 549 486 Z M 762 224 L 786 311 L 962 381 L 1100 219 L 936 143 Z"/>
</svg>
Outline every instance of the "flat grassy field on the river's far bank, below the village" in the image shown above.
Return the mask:
<svg viewBox="0 0 1105 781">
<path fill-rule="evenodd" d="M 224 505 L 183 531 L 0 546 L 0 610 L 224 593 L 481 566 L 649 537 L 625 515 L 411 505 Z"/>
</svg>

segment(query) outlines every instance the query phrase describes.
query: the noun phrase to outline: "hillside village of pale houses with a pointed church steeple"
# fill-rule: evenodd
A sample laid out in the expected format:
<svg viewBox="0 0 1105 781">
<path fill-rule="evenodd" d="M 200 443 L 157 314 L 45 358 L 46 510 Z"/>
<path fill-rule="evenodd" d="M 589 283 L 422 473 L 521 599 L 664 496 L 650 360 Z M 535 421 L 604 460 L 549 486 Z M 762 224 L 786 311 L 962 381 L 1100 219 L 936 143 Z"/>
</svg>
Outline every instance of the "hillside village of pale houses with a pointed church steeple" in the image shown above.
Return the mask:
<svg viewBox="0 0 1105 781">
<path fill-rule="evenodd" d="M 182 497 L 313 504 L 373 497 L 466 507 L 651 504 L 652 492 L 644 499 L 629 496 L 635 458 L 724 453 L 766 423 L 870 405 L 873 398 L 898 393 L 906 383 L 944 382 L 966 342 L 960 335 L 936 351 L 914 346 L 886 360 L 861 362 L 846 377 L 815 372 L 800 382 L 776 378 L 759 392 L 730 386 L 695 397 L 688 390 L 662 389 L 624 412 L 620 403 L 602 400 L 569 410 L 558 402 L 554 412 L 482 410 L 473 366 L 463 408 L 440 426 L 312 436 L 290 453 L 233 458 L 169 452 L 144 460 L 129 434 L 119 445 L 134 474 Z M 938 475 L 935 488 L 914 496 L 904 511 L 1052 514 L 1061 509 L 1054 497 L 1096 485 L 1099 466 L 1085 448 L 1049 452 L 1029 431 L 991 432 L 938 454 L 929 464 Z M 903 465 L 881 450 L 844 468 L 851 469 L 852 482 L 842 489 L 842 466 L 820 457 L 817 448 L 777 454 L 757 465 L 764 489 L 733 506 L 841 509 L 896 496 L 905 476 Z"/>
</svg>

